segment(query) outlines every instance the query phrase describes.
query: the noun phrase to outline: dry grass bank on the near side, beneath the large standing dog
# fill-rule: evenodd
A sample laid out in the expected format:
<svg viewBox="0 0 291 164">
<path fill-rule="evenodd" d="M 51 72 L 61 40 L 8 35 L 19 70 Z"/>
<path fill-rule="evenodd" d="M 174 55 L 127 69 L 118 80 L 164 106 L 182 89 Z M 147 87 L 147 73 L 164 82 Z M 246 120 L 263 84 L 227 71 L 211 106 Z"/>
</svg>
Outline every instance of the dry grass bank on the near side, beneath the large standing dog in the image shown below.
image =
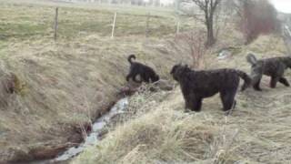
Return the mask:
<svg viewBox="0 0 291 164">
<path fill-rule="evenodd" d="M 226 42 L 218 45 L 239 40 L 227 33 Z M 258 53 L 259 58 L 286 54 L 283 41 L 276 36 L 261 36 L 255 43 L 240 47 L 226 60 L 209 59 L 206 67 L 249 72 L 248 51 Z M 290 75 L 287 71 L 288 79 Z M 262 81 L 263 92 L 251 88 L 239 92 L 236 110 L 227 118 L 220 110 L 218 96 L 205 99 L 203 112 L 186 114 L 178 87 L 171 93 L 136 94 L 117 127 L 109 128 L 104 140 L 72 163 L 288 163 L 290 88 L 278 84 L 271 89 L 268 81 Z"/>
</svg>

